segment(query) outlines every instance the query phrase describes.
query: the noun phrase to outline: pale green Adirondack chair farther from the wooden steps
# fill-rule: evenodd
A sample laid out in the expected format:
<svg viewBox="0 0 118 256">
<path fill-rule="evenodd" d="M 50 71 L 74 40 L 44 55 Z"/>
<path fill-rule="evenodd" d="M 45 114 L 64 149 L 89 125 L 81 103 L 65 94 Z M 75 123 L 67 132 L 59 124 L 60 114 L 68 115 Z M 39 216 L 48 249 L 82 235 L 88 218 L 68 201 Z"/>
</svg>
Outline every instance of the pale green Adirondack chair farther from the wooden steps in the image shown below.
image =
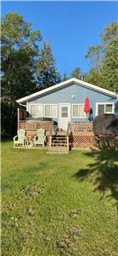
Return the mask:
<svg viewBox="0 0 118 256">
<path fill-rule="evenodd" d="M 23 147 L 25 146 L 25 130 L 20 129 L 17 132 L 18 135 L 14 137 L 14 147 L 15 145 L 22 145 Z"/>
</svg>

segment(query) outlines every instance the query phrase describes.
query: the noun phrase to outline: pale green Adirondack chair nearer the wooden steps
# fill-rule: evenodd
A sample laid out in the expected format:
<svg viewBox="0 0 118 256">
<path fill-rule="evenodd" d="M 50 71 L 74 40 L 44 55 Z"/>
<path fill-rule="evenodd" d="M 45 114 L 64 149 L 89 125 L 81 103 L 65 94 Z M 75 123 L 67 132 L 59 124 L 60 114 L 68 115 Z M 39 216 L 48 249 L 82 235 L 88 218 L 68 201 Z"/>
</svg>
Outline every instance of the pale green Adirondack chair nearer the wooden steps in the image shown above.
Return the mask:
<svg viewBox="0 0 118 256">
<path fill-rule="evenodd" d="M 37 145 L 42 145 L 44 148 L 45 140 L 46 140 L 45 130 L 38 129 L 37 136 L 34 137 L 34 146 L 37 147 Z"/>
</svg>

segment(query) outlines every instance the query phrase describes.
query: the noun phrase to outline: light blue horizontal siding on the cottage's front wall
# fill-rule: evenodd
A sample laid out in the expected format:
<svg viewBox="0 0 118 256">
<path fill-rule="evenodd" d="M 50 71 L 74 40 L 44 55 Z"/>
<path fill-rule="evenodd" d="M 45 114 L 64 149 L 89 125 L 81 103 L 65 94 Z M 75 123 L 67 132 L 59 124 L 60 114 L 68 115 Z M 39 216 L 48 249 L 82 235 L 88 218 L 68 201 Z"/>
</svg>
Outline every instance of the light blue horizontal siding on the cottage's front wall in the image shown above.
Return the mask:
<svg viewBox="0 0 118 256">
<path fill-rule="evenodd" d="M 75 97 L 72 97 L 75 96 Z M 37 96 L 34 99 L 29 100 L 28 111 L 31 113 L 31 104 L 59 104 L 59 103 L 70 103 L 72 104 L 81 104 L 85 102 L 86 97 L 88 96 L 90 100 L 90 108 L 93 108 L 93 117 L 96 115 L 96 102 L 116 102 L 116 99 L 112 96 L 104 95 L 104 93 L 88 89 L 78 84 L 67 85 L 61 89 L 48 92 L 45 95 Z M 59 113 L 59 107 L 58 107 Z M 115 113 L 118 114 L 118 103 L 115 103 Z M 44 114 L 44 112 L 43 112 Z M 58 121 L 58 119 L 54 119 Z M 85 119 L 72 118 L 71 122 L 84 121 Z"/>
</svg>

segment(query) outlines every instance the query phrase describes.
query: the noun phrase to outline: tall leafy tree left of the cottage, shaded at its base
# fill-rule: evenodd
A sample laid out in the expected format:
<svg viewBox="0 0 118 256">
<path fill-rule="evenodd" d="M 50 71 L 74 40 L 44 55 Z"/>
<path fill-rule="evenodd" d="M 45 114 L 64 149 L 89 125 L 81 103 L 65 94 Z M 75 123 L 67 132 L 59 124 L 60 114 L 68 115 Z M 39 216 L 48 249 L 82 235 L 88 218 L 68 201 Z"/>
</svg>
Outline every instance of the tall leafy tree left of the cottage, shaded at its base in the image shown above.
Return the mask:
<svg viewBox="0 0 118 256">
<path fill-rule="evenodd" d="M 2 134 L 14 133 L 15 100 L 37 89 L 35 73 L 40 41 L 40 31 L 32 31 L 31 23 L 21 15 L 9 13 L 2 19 Z"/>
</svg>

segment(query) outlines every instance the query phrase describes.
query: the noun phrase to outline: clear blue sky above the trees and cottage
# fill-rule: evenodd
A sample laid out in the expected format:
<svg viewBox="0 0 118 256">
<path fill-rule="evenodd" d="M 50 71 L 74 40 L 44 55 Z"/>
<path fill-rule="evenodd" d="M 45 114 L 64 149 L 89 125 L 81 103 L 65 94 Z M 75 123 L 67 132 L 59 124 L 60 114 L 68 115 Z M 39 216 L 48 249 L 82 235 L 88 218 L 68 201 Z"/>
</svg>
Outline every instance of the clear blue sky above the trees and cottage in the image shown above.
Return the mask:
<svg viewBox="0 0 118 256">
<path fill-rule="evenodd" d="M 84 58 L 87 49 L 100 43 L 105 25 L 117 20 L 118 3 L 4 1 L 2 16 L 8 12 L 23 15 L 34 30 L 40 29 L 43 40 L 51 44 L 58 71 L 63 75 L 66 70 L 70 76 L 75 67 L 81 67 L 83 73 L 88 71 L 89 62 Z"/>
</svg>

